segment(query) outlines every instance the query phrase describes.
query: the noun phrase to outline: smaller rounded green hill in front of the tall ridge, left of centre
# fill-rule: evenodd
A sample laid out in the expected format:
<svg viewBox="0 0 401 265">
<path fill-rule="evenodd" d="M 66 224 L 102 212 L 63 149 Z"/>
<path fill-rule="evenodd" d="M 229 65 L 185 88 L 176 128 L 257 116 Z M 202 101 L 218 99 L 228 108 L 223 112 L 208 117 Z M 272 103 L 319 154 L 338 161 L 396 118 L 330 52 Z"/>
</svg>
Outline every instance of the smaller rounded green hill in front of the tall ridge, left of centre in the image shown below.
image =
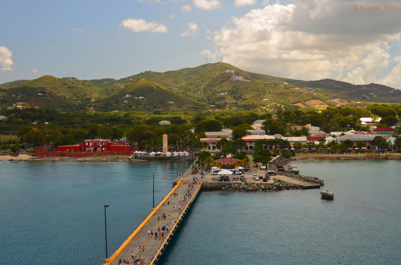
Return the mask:
<svg viewBox="0 0 401 265">
<path fill-rule="evenodd" d="M 121 87 L 120 84 L 115 86 Z M 142 79 L 124 85 L 118 92 L 100 101 L 100 104 L 103 109 L 105 106 L 115 109 L 197 109 L 205 106 L 169 91 L 155 82 Z"/>
</svg>

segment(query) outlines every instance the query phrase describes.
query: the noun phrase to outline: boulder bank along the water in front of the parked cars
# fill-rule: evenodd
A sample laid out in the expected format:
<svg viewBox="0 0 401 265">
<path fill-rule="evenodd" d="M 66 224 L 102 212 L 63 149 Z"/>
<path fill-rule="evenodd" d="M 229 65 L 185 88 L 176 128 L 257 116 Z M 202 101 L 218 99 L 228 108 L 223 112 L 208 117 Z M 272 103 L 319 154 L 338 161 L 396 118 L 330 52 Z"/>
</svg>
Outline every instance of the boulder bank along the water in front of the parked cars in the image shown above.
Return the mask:
<svg viewBox="0 0 401 265">
<path fill-rule="evenodd" d="M 274 183 L 233 183 L 222 188 L 223 190 L 241 191 L 241 192 L 263 192 L 279 191 L 286 189 L 301 189 L 297 184 L 288 183 L 281 180 L 275 180 Z"/>
</svg>

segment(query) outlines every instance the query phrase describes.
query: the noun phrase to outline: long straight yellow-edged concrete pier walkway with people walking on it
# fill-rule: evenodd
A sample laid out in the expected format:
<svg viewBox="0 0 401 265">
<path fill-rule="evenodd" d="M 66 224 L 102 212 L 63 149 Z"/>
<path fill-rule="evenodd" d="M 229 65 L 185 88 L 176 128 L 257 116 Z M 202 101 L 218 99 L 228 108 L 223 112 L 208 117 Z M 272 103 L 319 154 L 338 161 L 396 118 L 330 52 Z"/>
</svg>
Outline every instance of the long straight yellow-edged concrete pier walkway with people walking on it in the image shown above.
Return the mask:
<svg viewBox="0 0 401 265">
<path fill-rule="evenodd" d="M 200 179 L 199 179 L 200 182 Z M 118 260 L 129 260 L 132 261 L 131 253 L 136 257 L 145 259 L 146 264 L 152 264 L 157 261 L 161 255 L 164 247 L 168 244 L 168 241 L 172 237 L 178 224 L 193 199 L 196 197 L 200 190 L 201 183 L 194 185 L 192 192 L 188 184 L 192 184 L 192 175 L 185 175 L 182 181 L 167 194 L 167 196 L 160 202 L 159 205 L 153 210 L 149 216 L 135 229 L 135 231 L 127 238 L 127 240 L 116 250 L 114 254 L 109 257 L 110 265 L 118 265 Z M 178 210 L 179 201 L 182 202 L 184 193 L 191 192 L 192 196 L 187 198 L 185 202 L 181 203 L 181 209 Z M 174 192 L 176 196 L 174 197 Z M 169 199 L 169 203 L 167 202 Z M 174 205 L 176 209 L 174 210 Z M 161 214 L 165 213 L 166 219 L 161 218 Z M 159 216 L 159 218 L 157 218 Z M 176 225 L 175 225 L 176 224 Z M 155 239 L 155 232 L 158 232 L 158 228 L 168 226 L 168 231 L 164 231 L 164 237 L 160 239 L 158 236 Z M 153 236 L 148 236 L 148 230 L 153 230 Z M 171 233 L 170 233 L 171 232 Z M 144 246 L 145 251 L 140 252 L 139 247 Z M 153 261 L 153 262 L 152 262 Z M 104 263 L 104 264 L 107 264 Z M 134 263 L 135 264 L 135 263 Z M 144 263 L 145 264 L 145 263 Z"/>
</svg>

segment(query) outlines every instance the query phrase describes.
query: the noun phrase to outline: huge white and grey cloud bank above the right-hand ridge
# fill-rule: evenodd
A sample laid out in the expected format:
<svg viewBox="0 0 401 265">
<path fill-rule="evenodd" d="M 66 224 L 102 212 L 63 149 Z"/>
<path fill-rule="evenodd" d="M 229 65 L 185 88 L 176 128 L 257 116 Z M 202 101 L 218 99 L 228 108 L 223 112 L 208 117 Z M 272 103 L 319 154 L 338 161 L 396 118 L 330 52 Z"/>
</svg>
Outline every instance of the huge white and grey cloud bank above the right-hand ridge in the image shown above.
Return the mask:
<svg viewBox="0 0 401 265">
<path fill-rule="evenodd" d="M 401 59 L 390 56 L 387 43 L 400 42 L 401 17 L 357 13 L 345 0 L 320 2 L 294 0 L 254 9 L 208 34 L 218 57 L 250 71 L 305 80 L 400 83 Z"/>
</svg>

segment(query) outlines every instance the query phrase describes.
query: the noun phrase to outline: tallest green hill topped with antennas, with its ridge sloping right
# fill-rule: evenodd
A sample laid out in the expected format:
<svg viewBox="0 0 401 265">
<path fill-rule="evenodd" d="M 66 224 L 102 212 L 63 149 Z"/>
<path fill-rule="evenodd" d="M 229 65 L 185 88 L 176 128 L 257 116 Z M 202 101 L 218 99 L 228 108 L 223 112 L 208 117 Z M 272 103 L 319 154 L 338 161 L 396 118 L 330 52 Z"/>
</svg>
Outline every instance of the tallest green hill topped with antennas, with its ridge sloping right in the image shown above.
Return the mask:
<svg viewBox="0 0 401 265">
<path fill-rule="evenodd" d="M 232 74 L 225 73 L 226 70 L 234 70 L 236 76 L 242 76 L 244 79 L 234 81 Z M 121 79 L 119 82 L 142 78 L 157 82 L 187 98 L 219 105 L 220 108 L 233 105 L 247 109 L 264 107 L 266 104 L 263 99 L 270 100 L 268 105 L 297 104 L 301 107 L 320 105 L 322 108 L 338 104 L 332 101 L 336 98 L 343 101 L 401 103 L 401 91 L 392 91 L 392 88 L 382 85 L 354 86 L 331 79 L 294 80 L 251 73 L 226 63 L 205 64 L 164 73 L 146 71 Z M 284 86 L 282 82 L 287 82 L 288 85 Z M 312 90 L 300 92 L 293 88 L 301 88 L 301 90 L 311 88 Z M 376 97 L 369 93 L 373 93 Z"/>
</svg>

